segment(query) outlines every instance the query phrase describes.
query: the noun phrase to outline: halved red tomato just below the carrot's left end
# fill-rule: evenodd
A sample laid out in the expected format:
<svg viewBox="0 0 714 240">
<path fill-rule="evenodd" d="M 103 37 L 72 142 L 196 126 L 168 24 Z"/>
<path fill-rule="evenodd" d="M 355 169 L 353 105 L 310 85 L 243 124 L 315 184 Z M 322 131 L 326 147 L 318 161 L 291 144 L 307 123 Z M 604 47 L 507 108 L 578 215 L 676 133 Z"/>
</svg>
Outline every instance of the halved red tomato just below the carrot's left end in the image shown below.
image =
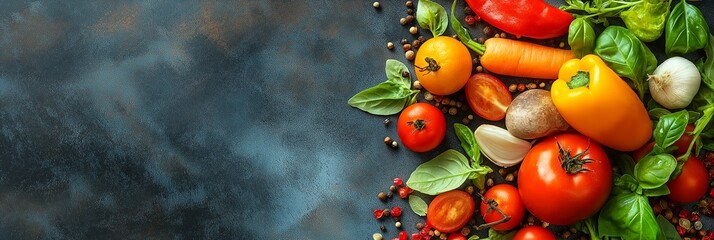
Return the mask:
<svg viewBox="0 0 714 240">
<path fill-rule="evenodd" d="M 506 117 L 506 109 L 513 101 L 506 85 L 487 73 L 471 76 L 466 82 L 464 91 L 471 110 L 490 121 L 499 121 Z"/>
</svg>

